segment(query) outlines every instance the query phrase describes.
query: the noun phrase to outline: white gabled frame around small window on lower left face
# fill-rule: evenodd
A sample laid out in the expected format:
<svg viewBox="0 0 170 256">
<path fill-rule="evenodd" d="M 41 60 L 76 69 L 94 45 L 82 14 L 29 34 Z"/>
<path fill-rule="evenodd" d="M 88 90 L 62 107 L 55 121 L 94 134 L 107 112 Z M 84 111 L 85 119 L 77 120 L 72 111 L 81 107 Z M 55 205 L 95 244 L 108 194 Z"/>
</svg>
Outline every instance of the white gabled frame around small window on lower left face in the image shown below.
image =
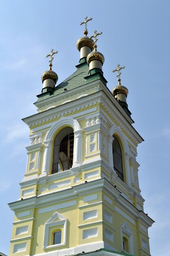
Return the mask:
<svg viewBox="0 0 170 256">
<path fill-rule="evenodd" d="M 57 218 L 60 220 L 55 221 Z M 63 241 L 60 244 L 57 245 L 48 245 L 48 240 L 49 240 L 49 229 L 51 227 L 57 227 L 59 225 L 63 225 Z M 59 247 L 66 245 L 66 232 L 67 232 L 67 219 L 64 218 L 60 213 L 56 212 L 53 214 L 53 216 L 46 222 L 45 224 L 45 232 L 44 232 L 44 245 L 43 249 L 49 249 L 49 248 L 54 248 L 54 247 Z"/>
</svg>

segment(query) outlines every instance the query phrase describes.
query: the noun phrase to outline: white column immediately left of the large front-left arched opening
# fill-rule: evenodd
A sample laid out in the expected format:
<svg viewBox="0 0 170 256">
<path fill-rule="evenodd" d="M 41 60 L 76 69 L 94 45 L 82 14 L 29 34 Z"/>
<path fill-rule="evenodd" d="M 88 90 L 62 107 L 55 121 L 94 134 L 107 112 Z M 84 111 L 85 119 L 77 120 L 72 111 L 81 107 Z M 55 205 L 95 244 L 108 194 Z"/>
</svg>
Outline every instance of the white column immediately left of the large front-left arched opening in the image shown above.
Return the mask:
<svg viewBox="0 0 170 256">
<path fill-rule="evenodd" d="M 50 168 L 50 157 L 51 157 L 51 140 L 44 141 L 44 156 L 42 164 L 42 176 L 48 175 Z"/>
</svg>

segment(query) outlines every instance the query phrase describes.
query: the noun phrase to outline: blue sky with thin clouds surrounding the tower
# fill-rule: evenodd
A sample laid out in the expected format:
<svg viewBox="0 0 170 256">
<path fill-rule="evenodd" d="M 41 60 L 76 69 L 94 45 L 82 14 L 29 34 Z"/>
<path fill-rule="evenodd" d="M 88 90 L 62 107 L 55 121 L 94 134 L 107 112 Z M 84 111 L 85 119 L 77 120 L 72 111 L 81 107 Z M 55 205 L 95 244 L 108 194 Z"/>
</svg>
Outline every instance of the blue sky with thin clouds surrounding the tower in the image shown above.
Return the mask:
<svg viewBox="0 0 170 256">
<path fill-rule="evenodd" d="M 112 70 L 126 68 L 121 83 L 134 127 L 145 141 L 138 147 L 139 184 L 144 210 L 155 220 L 149 229 L 152 256 L 170 255 L 170 1 L 169 0 L 1 0 L 0 1 L 0 252 L 9 253 L 13 212 L 26 167 L 29 129 L 21 118 L 35 114 L 50 49 L 58 51 L 53 70 L 59 84 L 75 72 L 76 49 L 84 27 L 104 54 L 108 88 L 117 85 Z"/>
</svg>

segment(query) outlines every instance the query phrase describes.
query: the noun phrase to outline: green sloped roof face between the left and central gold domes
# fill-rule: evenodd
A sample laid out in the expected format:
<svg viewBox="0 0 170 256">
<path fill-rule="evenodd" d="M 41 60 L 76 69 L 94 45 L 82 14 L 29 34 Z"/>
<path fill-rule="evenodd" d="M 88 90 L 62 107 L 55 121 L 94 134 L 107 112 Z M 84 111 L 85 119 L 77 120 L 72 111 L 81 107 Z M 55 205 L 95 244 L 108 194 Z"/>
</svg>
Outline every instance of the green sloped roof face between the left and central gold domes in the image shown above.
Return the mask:
<svg viewBox="0 0 170 256">
<path fill-rule="evenodd" d="M 62 83 L 57 85 L 55 87 L 53 94 L 44 95 L 44 97 L 40 97 L 37 101 L 42 101 L 44 99 L 51 98 L 55 95 L 61 94 L 64 92 L 65 88 L 67 89 L 67 91 L 69 91 L 84 85 L 86 83 L 86 80 L 84 79 L 84 77 L 88 75 L 88 71 L 89 71 L 89 67 L 87 62 L 77 65 L 77 70 L 67 79 L 65 79 Z"/>
</svg>

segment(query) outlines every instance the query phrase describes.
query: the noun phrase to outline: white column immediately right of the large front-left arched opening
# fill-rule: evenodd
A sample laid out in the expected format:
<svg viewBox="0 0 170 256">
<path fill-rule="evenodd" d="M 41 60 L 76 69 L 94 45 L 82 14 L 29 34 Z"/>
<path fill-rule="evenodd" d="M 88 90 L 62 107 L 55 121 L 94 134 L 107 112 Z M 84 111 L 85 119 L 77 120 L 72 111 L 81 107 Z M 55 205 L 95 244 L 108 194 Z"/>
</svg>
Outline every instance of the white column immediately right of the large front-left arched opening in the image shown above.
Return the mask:
<svg viewBox="0 0 170 256">
<path fill-rule="evenodd" d="M 82 130 L 74 132 L 74 165 L 82 163 Z"/>
</svg>

